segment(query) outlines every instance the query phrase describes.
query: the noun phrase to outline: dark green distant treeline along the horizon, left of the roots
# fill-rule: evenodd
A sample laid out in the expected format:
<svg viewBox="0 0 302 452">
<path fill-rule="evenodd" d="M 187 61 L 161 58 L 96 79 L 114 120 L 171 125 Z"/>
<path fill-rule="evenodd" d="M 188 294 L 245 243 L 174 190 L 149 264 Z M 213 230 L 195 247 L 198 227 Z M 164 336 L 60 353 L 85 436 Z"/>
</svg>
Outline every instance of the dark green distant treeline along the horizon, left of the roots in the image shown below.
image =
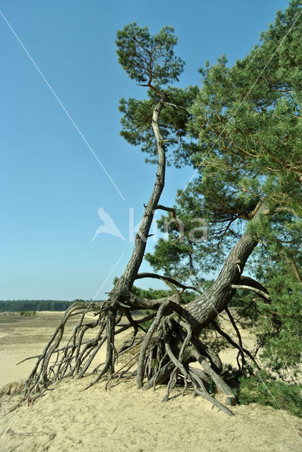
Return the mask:
<svg viewBox="0 0 302 452">
<path fill-rule="evenodd" d="M 19 311 L 66 311 L 73 302 L 54 299 L 17 299 L 0 301 L 0 312 Z"/>
</svg>

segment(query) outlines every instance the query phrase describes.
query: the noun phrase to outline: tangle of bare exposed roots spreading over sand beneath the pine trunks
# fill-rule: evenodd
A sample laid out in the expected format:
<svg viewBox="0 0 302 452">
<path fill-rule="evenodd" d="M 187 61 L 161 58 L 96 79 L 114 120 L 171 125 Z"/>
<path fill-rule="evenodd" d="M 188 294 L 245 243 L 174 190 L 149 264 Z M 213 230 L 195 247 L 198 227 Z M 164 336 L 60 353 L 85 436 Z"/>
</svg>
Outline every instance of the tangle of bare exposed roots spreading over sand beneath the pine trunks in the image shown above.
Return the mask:
<svg viewBox="0 0 302 452">
<path fill-rule="evenodd" d="M 190 323 L 183 318 L 181 309 L 179 304 L 168 298 L 159 305 L 157 312 L 138 319 L 137 316 L 133 317 L 133 311 L 127 304 L 109 301 L 74 304 L 66 311 L 44 351 L 37 357 L 37 363 L 25 381 L 23 403 L 33 403 L 55 381 L 68 376 L 81 378 L 89 373 L 97 376 L 85 389 L 106 376 L 105 389 L 115 386 L 121 379 L 136 377 L 138 388 L 148 389 L 166 384 L 167 392 L 163 401 L 167 401 L 176 384 L 181 384 L 182 394 L 191 387 L 193 396 L 200 395 L 227 415 L 233 415 L 229 408 L 207 391 L 212 379 L 226 396 L 226 404 L 236 403 L 231 388 L 219 377 L 219 357 L 200 342 Z M 87 314 L 92 313 L 95 319 L 87 317 Z M 66 323 L 77 315 L 78 323 L 62 345 Z M 124 320 L 128 323 L 121 323 Z M 152 324 L 146 330 L 142 324 L 150 320 Z M 116 336 L 125 331 L 131 332 L 131 337 L 126 338 L 117 349 Z M 106 347 L 106 359 L 91 370 L 102 347 Z M 123 355 L 126 356 L 126 362 L 116 368 Z M 200 363 L 200 369 L 189 365 L 196 361 Z"/>
</svg>

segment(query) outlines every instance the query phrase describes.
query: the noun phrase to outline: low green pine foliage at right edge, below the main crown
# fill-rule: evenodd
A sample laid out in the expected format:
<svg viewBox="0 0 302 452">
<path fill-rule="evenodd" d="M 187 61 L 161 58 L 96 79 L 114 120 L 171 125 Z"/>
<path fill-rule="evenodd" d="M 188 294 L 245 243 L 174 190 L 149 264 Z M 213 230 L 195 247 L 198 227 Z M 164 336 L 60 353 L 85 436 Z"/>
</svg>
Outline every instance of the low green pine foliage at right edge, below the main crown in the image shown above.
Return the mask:
<svg viewBox="0 0 302 452">
<path fill-rule="evenodd" d="M 287 261 L 283 252 L 281 248 L 273 254 L 270 246 L 258 250 L 255 275 L 265 282 L 272 302 L 258 300 L 259 321 L 255 331 L 258 343 L 263 344 L 260 357 L 266 367 L 284 381 L 295 381 L 301 372 L 302 291 L 292 268 L 293 261 Z M 301 253 L 297 253 L 297 265 L 301 265 L 301 259 Z M 262 265 L 264 260 L 266 266 Z"/>
</svg>

